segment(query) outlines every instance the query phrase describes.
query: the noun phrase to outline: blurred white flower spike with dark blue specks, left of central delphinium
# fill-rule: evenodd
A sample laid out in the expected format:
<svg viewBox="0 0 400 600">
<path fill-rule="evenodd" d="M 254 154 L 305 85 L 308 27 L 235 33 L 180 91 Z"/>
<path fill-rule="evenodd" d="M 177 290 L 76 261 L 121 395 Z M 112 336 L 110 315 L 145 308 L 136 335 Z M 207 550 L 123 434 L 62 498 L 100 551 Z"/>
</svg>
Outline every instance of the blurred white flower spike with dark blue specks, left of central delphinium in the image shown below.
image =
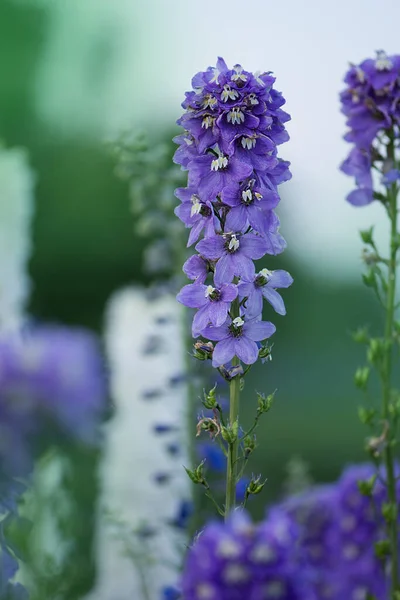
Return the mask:
<svg viewBox="0 0 400 600">
<path fill-rule="evenodd" d="M 109 303 L 115 413 L 102 474 L 109 519 L 99 530 L 96 600 L 122 588 L 143 600 L 175 594 L 191 511 L 181 466 L 188 407 L 180 312 L 165 291 L 144 288 L 121 290 Z"/>
</svg>

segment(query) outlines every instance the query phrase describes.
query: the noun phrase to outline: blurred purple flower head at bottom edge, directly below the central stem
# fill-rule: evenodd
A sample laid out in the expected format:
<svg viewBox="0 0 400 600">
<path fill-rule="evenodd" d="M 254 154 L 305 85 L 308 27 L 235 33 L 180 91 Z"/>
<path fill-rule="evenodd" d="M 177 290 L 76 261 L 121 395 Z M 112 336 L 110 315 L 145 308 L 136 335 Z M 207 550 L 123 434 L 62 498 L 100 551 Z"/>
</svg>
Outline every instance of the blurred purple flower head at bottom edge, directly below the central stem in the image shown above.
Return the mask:
<svg viewBox="0 0 400 600">
<path fill-rule="evenodd" d="M 186 557 L 185 600 L 314 600 L 306 571 L 293 569 L 296 528 L 274 511 L 255 527 L 244 513 L 206 526 Z"/>
</svg>

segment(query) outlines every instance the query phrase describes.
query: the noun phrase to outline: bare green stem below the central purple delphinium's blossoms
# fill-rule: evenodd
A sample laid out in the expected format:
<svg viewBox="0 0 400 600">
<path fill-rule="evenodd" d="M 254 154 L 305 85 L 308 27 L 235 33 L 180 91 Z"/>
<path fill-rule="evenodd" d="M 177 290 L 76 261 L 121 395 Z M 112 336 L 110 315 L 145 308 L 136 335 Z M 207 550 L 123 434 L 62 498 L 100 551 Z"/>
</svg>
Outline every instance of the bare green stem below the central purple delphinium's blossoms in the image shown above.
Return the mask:
<svg viewBox="0 0 400 600">
<path fill-rule="evenodd" d="M 238 365 L 239 360 L 235 356 L 232 365 Z M 234 377 L 230 382 L 229 394 L 229 422 L 231 426 L 239 419 L 239 396 L 240 396 L 240 378 Z M 238 440 L 230 443 L 228 446 L 228 461 L 226 468 L 226 501 L 225 501 L 225 519 L 234 510 L 236 506 L 236 483 L 237 483 L 237 455 Z"/>
</svg>

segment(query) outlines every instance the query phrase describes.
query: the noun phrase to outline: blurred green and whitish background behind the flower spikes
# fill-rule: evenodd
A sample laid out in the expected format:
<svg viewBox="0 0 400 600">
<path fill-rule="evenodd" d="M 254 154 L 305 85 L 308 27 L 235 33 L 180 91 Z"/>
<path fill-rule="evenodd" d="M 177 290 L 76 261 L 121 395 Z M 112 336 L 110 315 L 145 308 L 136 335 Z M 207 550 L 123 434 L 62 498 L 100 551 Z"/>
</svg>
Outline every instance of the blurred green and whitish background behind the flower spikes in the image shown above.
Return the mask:
<svg viewBox="0 0 400 600">
<path fill-rule="evenodd" d="M 268 477 L 264 503 L 293 456 L 316 481 L 364 458 L 353 386 L 364 350 L 351 331 L 378 328 L 381 314 L 361 284 L 358 230 L 374 224 L 385 244 L 385 218 L 344 200 L 352 184 L 338 170 L 348 150 L 338 94 L 349 61 L 399 50 L 399 20 L 391 0 L 0 2 L 0 138 L 28 149 L 37 176 L 29 308 L 38 321 L 100 332 L 114 290 L 151 283 L 109 143 L 144 132 L 172 156 L 184 91 L 218 55 L 276 74 L 292 115 L 281 156 L 293 179 L 280 209 L 288 249 L 269 268 L 295 283 L 287 316 L 266 312 L 277 325 L 273 362 L 254 368 L 243 400 L 246 420 L 254 390 L 278 390 L 253 462 Z"/>
</svg>

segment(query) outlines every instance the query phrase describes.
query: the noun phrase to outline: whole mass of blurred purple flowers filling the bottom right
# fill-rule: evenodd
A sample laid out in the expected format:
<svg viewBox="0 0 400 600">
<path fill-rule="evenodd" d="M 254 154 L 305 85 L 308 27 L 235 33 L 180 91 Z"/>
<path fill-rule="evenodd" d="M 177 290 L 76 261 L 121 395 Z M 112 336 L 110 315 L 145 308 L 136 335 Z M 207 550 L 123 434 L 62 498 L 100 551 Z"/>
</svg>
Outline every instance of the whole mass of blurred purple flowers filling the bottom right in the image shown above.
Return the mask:
<svg viewBox="0 0 400 600">
<path fill-rule="evenodd" d="M 187 555 L 184 600 L 367 600 L 388 597 L 374 545 L 384 536 L 384 486 L 361 495 L 371 465 L 284 501 L 253 526 L 239 511 L 211 523 Z"/>
</svg>

